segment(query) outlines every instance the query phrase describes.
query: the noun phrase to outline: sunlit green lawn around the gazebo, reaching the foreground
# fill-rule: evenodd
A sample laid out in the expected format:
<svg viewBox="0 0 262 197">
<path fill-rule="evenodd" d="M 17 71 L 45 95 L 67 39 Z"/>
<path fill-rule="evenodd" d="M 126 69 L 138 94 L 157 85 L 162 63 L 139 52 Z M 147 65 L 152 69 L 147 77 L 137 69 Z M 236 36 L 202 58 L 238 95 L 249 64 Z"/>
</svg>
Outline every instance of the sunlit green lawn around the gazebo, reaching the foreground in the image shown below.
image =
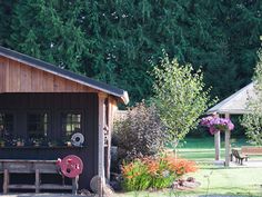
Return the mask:
<svg viewBox="0 0 262 197">
<path fill-rule="evenodd" d="M 249 145 L 245 139 L 233 139 L 232 147 L 241 147 Z M 213 138 L 187 139 L 187 142 L 180 145 L 177 152 L 179 157 L 195 160 L 200 166 L 198 173 L 189 175 L 193 176 L 201 186 L 191 191 L 137 191 L 119 194 L 118 196 L 127 197 L 161 197 L 161 196 L 198 196 L 198 195 L 230 195 L 230 196 L 262 196 L 262 166 L 261 167 L 234 167 L 224 168 L 213 165 L 214 161 Z M 221 159 L 224 158 L 223 141 L 221 145 Z M 262 157 L 252 157 L 251 159 L 260 159 Z"/>
</svg>

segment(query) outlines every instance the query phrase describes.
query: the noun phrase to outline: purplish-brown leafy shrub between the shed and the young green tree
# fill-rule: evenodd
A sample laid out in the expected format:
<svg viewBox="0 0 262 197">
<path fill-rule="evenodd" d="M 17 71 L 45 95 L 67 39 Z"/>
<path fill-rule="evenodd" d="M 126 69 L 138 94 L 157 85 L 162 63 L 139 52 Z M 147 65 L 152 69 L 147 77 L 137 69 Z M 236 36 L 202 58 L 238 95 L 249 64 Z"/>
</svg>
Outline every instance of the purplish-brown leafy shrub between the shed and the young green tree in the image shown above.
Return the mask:
<svg viewBox="0 0 262 197">
<path fill-rule="evenodd" d="M 160 152 L 164 142 L 164 129 L 155 107 L 147 107 L 144 102 L 140 102 L 129 109 L 127 119 L 114 125 L 112 141 L 120 149 L 120 158 L 125 160 Z"/>
</svg>

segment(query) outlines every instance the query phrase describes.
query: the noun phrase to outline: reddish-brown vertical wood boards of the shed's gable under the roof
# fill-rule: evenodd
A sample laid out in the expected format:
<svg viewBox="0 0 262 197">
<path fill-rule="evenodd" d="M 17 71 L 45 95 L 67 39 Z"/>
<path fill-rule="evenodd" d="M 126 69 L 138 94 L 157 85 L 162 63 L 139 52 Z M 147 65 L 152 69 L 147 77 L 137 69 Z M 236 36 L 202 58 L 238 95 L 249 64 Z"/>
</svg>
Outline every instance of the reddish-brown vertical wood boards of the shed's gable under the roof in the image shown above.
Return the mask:
<svg viewBox="0 0 262 197">
<path fill-rule="evenodd" d="M 54 73 L 0 57 L 0 92 L 99 92 Z"/>
</svg>

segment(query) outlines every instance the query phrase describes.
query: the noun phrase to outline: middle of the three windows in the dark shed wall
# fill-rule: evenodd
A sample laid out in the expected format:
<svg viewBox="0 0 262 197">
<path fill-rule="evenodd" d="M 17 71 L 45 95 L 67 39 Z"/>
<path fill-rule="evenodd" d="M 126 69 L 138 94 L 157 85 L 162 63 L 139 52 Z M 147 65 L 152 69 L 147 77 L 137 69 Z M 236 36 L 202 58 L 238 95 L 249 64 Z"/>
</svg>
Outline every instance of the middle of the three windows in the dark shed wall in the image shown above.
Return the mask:
<svg viewBox="0 0 262 197">
<path fill-rule="evenodd" d="M 28 114 L 28 137 L 46 138 L 48 136 L 49 118 L 47 112 Z"/>
</svg>

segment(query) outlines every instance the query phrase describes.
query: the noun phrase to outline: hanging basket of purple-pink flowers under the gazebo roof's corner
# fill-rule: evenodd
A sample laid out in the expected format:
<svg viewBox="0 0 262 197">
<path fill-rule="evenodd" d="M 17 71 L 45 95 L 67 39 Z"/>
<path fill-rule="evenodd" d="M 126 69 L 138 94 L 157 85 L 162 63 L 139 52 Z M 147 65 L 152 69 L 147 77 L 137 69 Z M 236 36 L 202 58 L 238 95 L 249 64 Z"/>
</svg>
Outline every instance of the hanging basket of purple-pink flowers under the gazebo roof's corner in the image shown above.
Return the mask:
<svg viewBox="0 0 262 197">
<path fill-rule="evenodd" d="M 218 131 L 233 130 L 234 125 L 229 118 L 219 118 L 215 116 L 208 116 L 201 119 L 202 126 L 209 127 L 210 134 L 214 135 Z"/>
</svg>

